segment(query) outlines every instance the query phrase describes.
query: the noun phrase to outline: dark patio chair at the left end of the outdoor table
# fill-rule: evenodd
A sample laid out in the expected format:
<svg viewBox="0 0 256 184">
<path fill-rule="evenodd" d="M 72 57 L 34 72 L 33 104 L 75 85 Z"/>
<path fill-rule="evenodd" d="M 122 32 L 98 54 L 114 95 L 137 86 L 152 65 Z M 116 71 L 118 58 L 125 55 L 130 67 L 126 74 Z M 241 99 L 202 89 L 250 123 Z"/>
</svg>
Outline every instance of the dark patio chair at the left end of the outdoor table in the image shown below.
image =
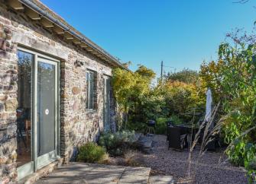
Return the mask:
<svg viewBox="0 0 256 184">
<path fill-rule="evenodd" d="M 187 148 L 187 134 L 182 130 L 180 127 L 168 127 L 167 128 L 167 135 L 169 138 L 169 147 L 174 148 L 177 150 L 183 150 Z"/>
</svg>

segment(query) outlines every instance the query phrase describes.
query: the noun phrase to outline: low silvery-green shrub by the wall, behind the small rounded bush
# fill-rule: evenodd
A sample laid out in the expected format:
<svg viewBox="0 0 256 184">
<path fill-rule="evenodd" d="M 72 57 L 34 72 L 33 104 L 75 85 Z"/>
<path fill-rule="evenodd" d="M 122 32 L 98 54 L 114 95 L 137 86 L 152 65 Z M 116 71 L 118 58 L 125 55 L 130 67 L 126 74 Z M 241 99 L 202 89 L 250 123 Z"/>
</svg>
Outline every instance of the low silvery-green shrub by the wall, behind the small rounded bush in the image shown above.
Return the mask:
<svg viewBox="0 0 256 184">
<path fill-rule="evenodd" d="M 99 145 L 105 148 L 109 154 L 120 156 L 131 146 L 134 141 L 134 132 L 106 132 L 99 138 Z"/>
</svg>

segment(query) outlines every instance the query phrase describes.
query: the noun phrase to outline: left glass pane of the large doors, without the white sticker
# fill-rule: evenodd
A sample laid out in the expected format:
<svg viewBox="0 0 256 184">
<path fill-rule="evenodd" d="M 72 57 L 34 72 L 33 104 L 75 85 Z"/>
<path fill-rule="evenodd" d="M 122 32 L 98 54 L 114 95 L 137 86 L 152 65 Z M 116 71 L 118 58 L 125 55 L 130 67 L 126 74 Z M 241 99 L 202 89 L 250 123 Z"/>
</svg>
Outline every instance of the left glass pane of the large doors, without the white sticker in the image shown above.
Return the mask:
<svg viewBox="0 0 256 184">
<path fill-rule="evenodd" d="M 34 56 L 18 51 L 17 143 L 18 167 L 31 161 L 31 80 Z"/>
</svg>

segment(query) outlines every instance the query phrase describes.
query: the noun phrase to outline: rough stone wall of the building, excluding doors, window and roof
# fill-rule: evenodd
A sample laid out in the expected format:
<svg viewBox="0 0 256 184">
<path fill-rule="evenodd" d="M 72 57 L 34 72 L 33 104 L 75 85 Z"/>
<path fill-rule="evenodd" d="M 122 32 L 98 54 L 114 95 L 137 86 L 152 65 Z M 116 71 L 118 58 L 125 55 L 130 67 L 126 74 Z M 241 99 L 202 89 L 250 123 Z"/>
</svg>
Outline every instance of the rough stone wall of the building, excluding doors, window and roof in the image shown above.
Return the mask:
<svg viewBox="0 0 256 184">
<path fill-rule="evenodd" d="M 17 180 L 18 46 L 60 60 L 60 156 L 65 163 L 76 155 L 80 144 L 96 141 L 103 130 L 103 76 L 112 74 L 109 63 L 46 30 L 22 11 L 12 11 L 0 0 L 0 183 Z M 85 65 L 76 67 L 76 60 Z M 96 109 L 92 111 L 86 110 L 86 69 L 97 74 Z M 115 130 L 113 97 L 110 112 Z"/>
</svg>

